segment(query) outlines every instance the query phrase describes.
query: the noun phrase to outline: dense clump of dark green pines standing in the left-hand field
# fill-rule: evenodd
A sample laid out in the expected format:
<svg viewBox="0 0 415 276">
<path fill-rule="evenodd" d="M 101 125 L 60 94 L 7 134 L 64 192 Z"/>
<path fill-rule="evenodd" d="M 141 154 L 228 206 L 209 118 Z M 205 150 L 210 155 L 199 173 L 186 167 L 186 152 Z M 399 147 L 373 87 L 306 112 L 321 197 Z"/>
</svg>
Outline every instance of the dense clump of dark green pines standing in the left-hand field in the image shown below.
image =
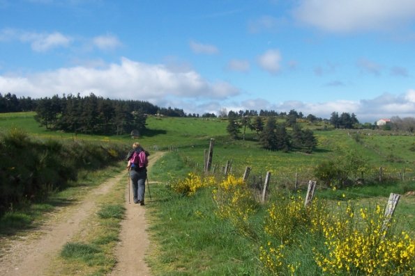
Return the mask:
<svg viewBox="0 0 415 276">
<path fill-rule="evenodd" d="M 143 101 L 104 99 L 68 95 L 40 98 L 35 120 L 46 129 L 73 133 L 122 135 L 146 128 L 146 114 L 155 114 L 158 106 Z"/>
</svg>

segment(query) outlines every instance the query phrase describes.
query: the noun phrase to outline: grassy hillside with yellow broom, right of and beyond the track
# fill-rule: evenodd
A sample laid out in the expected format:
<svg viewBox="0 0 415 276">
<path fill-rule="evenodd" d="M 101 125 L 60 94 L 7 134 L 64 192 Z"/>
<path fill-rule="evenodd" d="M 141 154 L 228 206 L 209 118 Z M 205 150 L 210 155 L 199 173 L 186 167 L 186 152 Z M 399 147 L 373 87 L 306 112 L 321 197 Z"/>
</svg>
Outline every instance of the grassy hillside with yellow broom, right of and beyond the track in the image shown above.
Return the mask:
<svg viewBox="0 0 415 276">
<path fill-rule="evenodd" d="M 126 148 L 135 142 L 128 134 L 74 136 L 47 131 L 37 126 L 33 113 L 0 115 L 1 131 L 13 127 L 39 139 L 105 141 Z M 414 136 L 390 131 L 319 131 L 313 126 L 317 149 L 304 154 L 262 149 L 252 131 L 247 131 L 246 140 L 232 140 L 226 127 L 227 121 L 218 119 L 147 119 L 147 130 L 139 142 L 149 152 L 169 151 L 149 175 L 151 181 L 161 183 L 151 190 L 157 204 L 147 206 L 151 212 L 150 232 L 158 244 L 149 256 L 156 275 L 321 275 L 324 271 L 348 275 L 347 266 L 354 275 L 367 275 L 367 269 L 374 269 L 370 263 L 378 267 L 384 264 L 384 269 L 377 270 L 379 275 L 390 275 L 395 268 L 414 272 L 413 268 L 399 267 L 399 261 L 404 259 L 391 263 L 384 257 L 375 261 L 361 257 L 359 267 L 359 263 L 356 266 L 347 261 L 357 258 L 354 252 L 346 251 L 350 247 L 361 254 L 365 246 L 376 248 L 369 241 L 384 241 L 382 235 L 374 233 L 379 233 L 379 223 L 382 226 L 383 208 L 390 193 L 402 195 L 393 232 L 403 230 L 414 238 L 415 198 L 405 195 L 415 190 Z M 214 180 L 202 173 L 204 150 L 209 148 L 211 138 L 215 141 Z M 236 179 L 222 174 L 227 161 L 232 161 L 231 172 Z M 368 180 L 364 184 L 350 183 L 340 190 L 317 181 L 316 200 L 310 212 L 303 206 L 303 196 L 308 181 L 315 179 L 317 166 L 327 161 L 350 167 L 363 161 L 364 178 Z M 237 177 L 242 176 L 246 166 L 252 168 L 248 184 L 261 186 L 266 172 L 271 172 L 266 202 L 259 202 L 259 190 L 253 193 L 252 186 L 241 188 L 243 184 Z M 377 211 L 376 206 L 382 210 Z M 321 222 L 336 226 L 325 228 Z M 365 225 L 372 228 L 365 230 Z M 324 233 L 329 236 L 324 237 Z M 405 238 L 388 238 L 391 244 L 409 250 L 413 244 L 412 240 L 408 245 Z M 362 241 L 368 243 L 361 244 Z M 387 248 L 384 254 L 392 255 L 393 247 Z M 324 255 L 327 252 L 338 259 L 330 259 Z M 414 258 L 413 250 L 408 252 Z M 407 263 L 411 265 L 414 260 Z"/>
</svg>

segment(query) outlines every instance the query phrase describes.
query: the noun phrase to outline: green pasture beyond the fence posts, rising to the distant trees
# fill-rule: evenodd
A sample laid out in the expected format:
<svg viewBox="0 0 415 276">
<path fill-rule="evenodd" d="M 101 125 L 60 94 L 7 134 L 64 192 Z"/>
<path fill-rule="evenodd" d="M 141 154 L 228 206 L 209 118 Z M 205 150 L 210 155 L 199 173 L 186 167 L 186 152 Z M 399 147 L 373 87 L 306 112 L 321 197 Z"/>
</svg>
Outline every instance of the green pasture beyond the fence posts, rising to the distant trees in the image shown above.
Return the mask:
<svg viewBox="0 0 415 276">
<path fill-rule="evenodd" d="M 100 142 L 125 143 L 127 147 L 133 140 L 129 133 L 121 136 L 91 136 L 82 133 L 50 131 L 40 127 L 34 120 L 35 113 L 0 114 L 0 130 L 19 128 L 40 139 L 59 140 L 97 140 Z M 250 166 L 252 173 L 264 175 L 271 172 L 280 181 L 294 181 L 295 174 L 303 181 L 312 177 L 315 166 L 326 160 L 335 160 L 354 152 L 368 163 L 370 174 L 375 177 L 379 167 L 392 178 L 415 177 L 414 136 L 408 133 L 391 131 L 356 130 L 314 130 L 318 141 L 312 154 L 301 152 L 269 152 L 257 142 L 257 133 L 246 130 L 246 140 L 232 140 L 227 136 L 227 120 L 219 118 L 155 117 L 147 118 L 147 129 L 139 142 L 150 152 L 154 150 L 178 150 L 193 165 L 203 167 L 204 150 L 209 149 L 209 141 L 214 138 L 213 166 L 220 169 L 227 161 L 232 161 L 232 170 L 240 173 Z"/>
</svg>

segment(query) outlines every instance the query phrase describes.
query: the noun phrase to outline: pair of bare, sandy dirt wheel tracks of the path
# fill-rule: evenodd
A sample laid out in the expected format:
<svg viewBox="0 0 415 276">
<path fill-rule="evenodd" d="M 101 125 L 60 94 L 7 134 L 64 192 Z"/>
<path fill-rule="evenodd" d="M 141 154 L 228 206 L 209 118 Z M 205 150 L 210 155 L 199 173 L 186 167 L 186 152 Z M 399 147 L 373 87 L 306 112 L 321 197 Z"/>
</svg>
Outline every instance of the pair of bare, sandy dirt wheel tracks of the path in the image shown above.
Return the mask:
<svg viewBox="0 0 415 276">
<path fill-rule="evenodd" d="M 155 152 L 149 156 L 149 170 L 162 155 L 163 152 Z M 82 222 L 98 211 L 97 195 L 108 193 L 123 178 L 126 178 L 126 172 L 94 188 L 79 203 L 57 209 L 42 226 L 29 234 L 0 239 L 0 275 L 47 275 L 50 260 L 80 232 Z M 148 190 L 146 200 L 146 204 L 151 204 Z M 115 252 L 117 264 L 111 275 L 150 275 L 144 261 L 149 247 L 146 206 L 134 204 L 133 200 L 128 203 L 127 183 L 125 207 L 126 218 L 121 222 L 120 242 Z"/>
</svg>

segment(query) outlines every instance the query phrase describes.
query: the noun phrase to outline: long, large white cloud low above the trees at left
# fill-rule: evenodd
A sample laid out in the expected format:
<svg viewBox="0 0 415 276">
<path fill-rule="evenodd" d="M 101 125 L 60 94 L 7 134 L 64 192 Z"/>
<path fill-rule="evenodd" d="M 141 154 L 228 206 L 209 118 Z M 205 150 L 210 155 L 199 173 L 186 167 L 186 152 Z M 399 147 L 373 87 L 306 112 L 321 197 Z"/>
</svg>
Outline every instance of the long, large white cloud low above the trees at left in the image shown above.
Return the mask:
<svg viewBox="0 0 415 276">
<path fill-rule="evenodd" d="M 106 67 L 68 67 L 29 76 L 0 76 L 4 91 L 20 96 L 50 97 L 77 93 L 111 99 L 142 99 L 157 104 L 166 97 L 226 99 L 239 90 L 226 82 L 209 82 L 197 72 L 172 72 L 165 65 L 121 58 Z"/>
</svg>

